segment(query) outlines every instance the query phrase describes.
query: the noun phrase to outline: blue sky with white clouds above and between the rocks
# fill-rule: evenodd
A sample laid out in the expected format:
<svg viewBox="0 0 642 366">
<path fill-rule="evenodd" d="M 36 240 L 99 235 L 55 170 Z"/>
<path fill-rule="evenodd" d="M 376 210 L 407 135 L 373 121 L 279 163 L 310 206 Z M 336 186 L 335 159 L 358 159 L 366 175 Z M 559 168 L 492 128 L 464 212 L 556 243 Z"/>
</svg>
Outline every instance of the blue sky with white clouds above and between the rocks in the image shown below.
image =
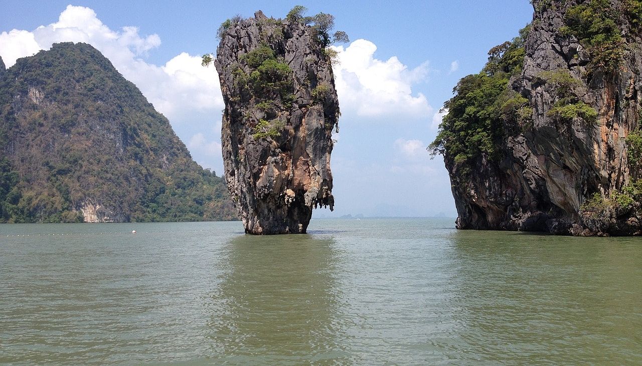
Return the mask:
<svg viewBox="0 0 642 366">
<path fill-rule="evenodd" d="M 335 211 L 315 216 L 456 216 L 443 162 L 431 161 L 425 147 L 456 82 L 480 71 L 490 48 L 531 21 L 528 0 L 3 0 L 0 56 L 11 65 L 53 42 L 94 45 L 169 118 L 195 160 L 222 173 L 218 79 L 198 56 L 216 50 L 225 19 L 259 9 L 283 17 L 296 4 L 332 13 L 352 41 L 337 45 Z"/>
</svg>

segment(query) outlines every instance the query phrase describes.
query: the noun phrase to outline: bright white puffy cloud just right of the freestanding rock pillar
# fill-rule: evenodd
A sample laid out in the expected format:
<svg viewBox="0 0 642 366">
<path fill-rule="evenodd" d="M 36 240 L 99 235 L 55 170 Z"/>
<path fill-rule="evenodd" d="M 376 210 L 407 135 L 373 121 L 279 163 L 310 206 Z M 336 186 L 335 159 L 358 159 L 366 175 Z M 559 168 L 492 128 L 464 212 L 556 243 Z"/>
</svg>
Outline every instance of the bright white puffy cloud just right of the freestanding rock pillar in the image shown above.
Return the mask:
<svg viewBox="0 0 642 366">
<path fill-rule="evenodd" d="M 413 94 L 413 83 L 428 75 L 428 63 L 408 69 L 397 57 L 374 58 L 377 46 L 365 39 L 347 48 L 334 47 L 340 63 L 334 80 L 342 111 L 362 117 L 428 118 L 432 113 L 426 96 Z"/>
</svg>

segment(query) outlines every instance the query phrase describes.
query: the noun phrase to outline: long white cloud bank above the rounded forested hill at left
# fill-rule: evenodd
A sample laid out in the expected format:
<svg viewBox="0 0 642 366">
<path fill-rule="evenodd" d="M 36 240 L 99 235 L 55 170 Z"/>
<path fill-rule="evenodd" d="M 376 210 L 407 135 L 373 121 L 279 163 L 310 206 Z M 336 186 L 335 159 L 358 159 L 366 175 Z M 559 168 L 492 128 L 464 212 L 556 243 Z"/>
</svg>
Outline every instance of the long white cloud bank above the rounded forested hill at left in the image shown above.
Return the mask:
<svg viewBox="0 0 642 366">
<path fill-rule="evenodd" d="M 134 26 L 112 30 L 98 19 L 94 10 L 84 6 L 69 5 L 57 22 L 33 31 L 3 31 L 0 56 L 10 67 L 17 58 L 49 49 L 56 42 L 85 42 L 94 46 L 175 126 L 190 123 L 194 111 L 218 113 L 223 108 L 218 74 L 213 67 L 202 67 L 200 57 L 181 53 L 165 65 L 149 64 L 143 58 L 160 46 L 158 35 L 141 36 Z"/>
</svg>

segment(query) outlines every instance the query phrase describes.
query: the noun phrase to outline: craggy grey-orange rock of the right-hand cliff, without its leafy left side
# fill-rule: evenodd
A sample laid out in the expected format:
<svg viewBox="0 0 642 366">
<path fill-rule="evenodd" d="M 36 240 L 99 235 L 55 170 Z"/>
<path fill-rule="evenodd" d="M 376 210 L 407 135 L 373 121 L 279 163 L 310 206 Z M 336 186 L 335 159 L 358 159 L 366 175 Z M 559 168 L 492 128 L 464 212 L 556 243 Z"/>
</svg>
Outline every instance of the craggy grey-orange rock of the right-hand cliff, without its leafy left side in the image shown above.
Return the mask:
<svg viewBox="0 0 642 366">
<path fill-rule="evenodd" d="M 508 82 L 516 98 L 527 99 L 520 110 L 528 116 L 501 121 L 495 158 L 456 159 L 454 140 L 436 141 L 457 227 L 640 234 L 639 1 L 533 4 L 523 66 Z"/>
</svg>

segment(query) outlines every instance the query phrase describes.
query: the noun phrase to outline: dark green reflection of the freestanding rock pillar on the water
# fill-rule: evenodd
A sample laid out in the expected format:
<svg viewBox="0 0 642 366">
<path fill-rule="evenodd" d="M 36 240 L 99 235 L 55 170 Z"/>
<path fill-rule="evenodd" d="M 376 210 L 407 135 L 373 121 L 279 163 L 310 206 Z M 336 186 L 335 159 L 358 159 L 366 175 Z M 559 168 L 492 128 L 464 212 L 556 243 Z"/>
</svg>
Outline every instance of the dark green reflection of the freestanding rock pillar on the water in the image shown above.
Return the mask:
<svg viewBox="0 0 642 366">
<path fill-rule="evenodd" d="M 217 359 L 299 364 L 345 357 L 334 281 L 341 259 L 333 246 L 308 235 L 230 241 L 222 282 L 207 299 Z"/>
</svg>

